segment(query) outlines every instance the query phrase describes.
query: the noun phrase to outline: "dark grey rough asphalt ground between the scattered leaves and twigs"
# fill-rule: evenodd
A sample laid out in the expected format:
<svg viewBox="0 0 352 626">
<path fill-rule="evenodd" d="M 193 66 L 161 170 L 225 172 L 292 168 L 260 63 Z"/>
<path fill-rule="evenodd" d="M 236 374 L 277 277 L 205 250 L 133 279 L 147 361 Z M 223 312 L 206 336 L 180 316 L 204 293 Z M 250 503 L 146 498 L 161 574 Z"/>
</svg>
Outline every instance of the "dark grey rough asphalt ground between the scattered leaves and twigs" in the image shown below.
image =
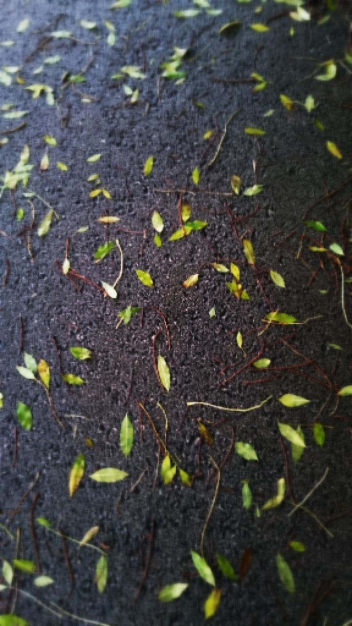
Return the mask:
<svg viewBox="0 0 352 626">
<path fill-rule="evenodd" d="M 351 383 L 351 329 L 341 309 L 338 257 L 330 252 L 320 254 L 320 266 L 319 255 L 309 251 L 308 246 L 317 245 L 316 242 L 319 245 L 321 233 L 304 230 L 303 217 L 309 205 L 351 176 L 352 68 L 348 63 L 337 63 L 344 59 L 348 48 L 348 7 L 329 13 L 318 6 L 313 8 L 314 19 L 307 23 L 282 16 L 270 23 L 267 33 L 256 33 L 249 24 L 264 23 L 287 5 L 270 2 L 263 5 L 262 14 L 256 15 L 254 4 L 230 0 L 217 4 L 223 9 L 219 16 L 202 11 L 195 18 L 182 20 L 173 16 L 174 10 L 190 7 L 182 0 L 169 4 L 134 0 L 120 11 L 110 11 L 105 1 L 2 3 L 0 41 L 13 39 L 15 44 L 0 48 L 1 66 L 22 66 L 17 75 L 26 83 L 19 84 L 16 74 L 11 74 L 12 85 L 1 86 L 1 105 L 11 102 L 17 110 L 29 113 L 19 120 L 1 118 L 1 131 L 22 121 L 26 121 L 26 127 L 1 135 L 1 139 L 8 136 L 9 141 L 0 148 L 0 173 L 13 170 L 28 143 L 29 163 L 34 164 L 28 188 L 53 205 L 60 220 L 54 219 L 49 233 L 39 238 L 38 225 L 48 208 L 37 197 L 29 198 L 35 207 L 34 227 L 30 230 L 31 207 L 22 195 L 26 190 L 19 183 L 12 199 L 9 190 L 3 191 L 0 556 L 8 562 L 16 556 L 36 561 L 30 524 L 34 501 L 34 518 L 48 518 L 54 529 L 78 540 L 91 526 L 100 526 L 91 543 L 100 545 L 108 554 L 108 582 L 105 591 L 98 593 L 98 552 L 89 547 L 77 552 L 75 543 L 66 540 L 74 580 L 71 585 L 63 541 L 34 522 L 41 572 L 51 576 L 54 583 L 36 588 L 33 575 L 18 572 L 15 587 L 51 608 L 54 602 L 87 621 L 121 626 L 203 623 L 202 607 L 211 589 L 197 575 L 190 550 L 200 551 L 200 534 L 214 496 L 215 473 L 210 454 L 217 464 L 224 461 L 234 428 L 236 440 L 251 443 L 259 461 L 246 461 L 232 449 L 221 471 L 219 494 L 204 543 L 204 555 L 222 589 L 212 622 L 241 626 L 342 626 L 352 618 L 351 401 L 341 398 L 336 408 L 336 391 Z M 331 17 L 319 25 L 317 20 L 324 15 Z M 28 29 L 16 33 L 19 21 L 26 17 L 31 18 Z M 96 30 L 82 28 L 82 18 L 96 21 Z M 106 19 L 115 26 L 113 47 L 106 44 L 110 32 Z M 232 19 L 242 21 L 238 33 L 220 36 L 220 26 Z M 289 34 L 291 26 L 293 36 Z M 75 39 L 45 39 L 59 29 L 70 30 Z M 170 58 L 173 46 L 190 48 L 181 68 L 187 72 L 182 85 L 161 77 L 160 63 Z M 60 62 L 44 65 L 43 72 L 33 76 L 33 69 L 54 54 L 60 54 Z M 65 71 L 79 74 L 90 61 L 90 54 L 93 61 L 86 69 L 86 81 L 63 88 Z M 312 74 L 317 71 L 317 64 L 328 59 L 336 59 L 336 78 L 328 82 L 315 80 Z M 111 80 L 125 65 L 140 66 L 147 78 L 135 80 L 126 76 Z M 270 81 L 265 90 L 252 93 L 255 83 L 214 81 L 249 78 L 252 72 Z M 56 105 L 49 106 L 44 95 L 32 100 L 31 92 L 24 87 L 33 83 L 52 86 Z M 122 83 L 133 90 L 140 88 L 135 105 L 130 105 Z M 79 92 L 91 96 L 90 103 L 81 102 Z M 304 106 L 296 104 L 287 110 L 279 99 L 281 94 L 301 103 L 313 95 L 318 108 L 308 113 Z M 203 103 L 204 108 L 195 102 Z M 214 155 L 225 121 L 238 108 L 217 160 L 211 168 L 205 168 Z M 264 117 L 269 109 L 274 109 L 274 113 Z M 324 130 L 314 126 L 317 118 Z M 203 135 L 217 126 L 219 133 L 202 159 L 209 145 Z M 266 135 L 248 136 L 245 126 L 263 128 Z M 58 143 L 48 146 L 49 169 L 41 172 L 39 163 L 46 149 L 46 134 L 54 136 Z M 326 150 L 326 140 L 338 145 L 342 160 Z M 87 163 L 88 156 L 95 153 L 102 154 L 100 161 Z M 154 156 L 153 171 L 144 177 L 143 165 L 150 155 Z M 264 185 L 261 195 L 215 195 L 214 192 L 231 192 L 230 178 L 234 174 L 242 178 L 242 190 L 254 185 L 252 160 L 257 161 L 257 182 Z M 56 168 L 56 161 L 66 163 L 68 172 Z M 195 167 L 201 172 L 199 187 L 192 182 Z M 109 190 L 112 200 L 101 195 L 89 197 L 94 186 L 86 179 L 95 172 L 100 174 L 102 186 Z M 189 237 L 168 242 L 170 234 L 180 227 L 180 193 L 158 193 L 156 189 L 173 187 L 194 192 L 184 193 L 182 200 L 192 206 L 191 219 L 206 220 L 208 226 Z M 230 215 L 237 220 L 239 237 L 231 227 L 226 202 Z M 349 182 L 308 215 L 328 228 L 323 239 L 326 248 L 332 242 L 343 247 L 345 255 L 339 258 L 346 277 L 351 271 L 350 202 Z M 16 210 L 24 208 L 23 222 L 16 220 L 14 205 Z M 256 207 L 256 215 L 241 221 Z M 160 249 L 153 243 L 150 222 L 155 209 L 165 223 Z M 110 227 L 97 222 L 99 216 L 108 214 L 121 221 Z M 85 225 L 89 230 L 76 233 Z M 303 233 L 305 239 L 301 239 Z M 33 261 L 26 247 L 29 235 Z M 286 235 L 290 237 L 282 241 Z M 82 281 L 77 282 L 81 288 L 78 293 L 68 280 L 70 274 L 65 277 L 60 273 L 67 237 L 71 268 L 99 284 L 100 280 L 110 284 L 115 280 L 119 255 L 115 250 L 101 264 L 94 264 L 93 254 L 106 240 L 119 238 L 125 267 L 116 287 L 118 300 L 105 298 L 98 289 Z M 256 269 L 246 263 L 243 238 L 250 239 L 254 246 Z M 296 259 L 301 244 L 301 254 Z M 227 265 L 232 260 L 241 267 L 242 284 L 251 300 L 237 300 L 230 294 L 225 285 L 228 275 L 210 266 L 210 262 L 220 259 Z M 182 282 L 197 273 L 201 265 L 198 284 L 185 290 Z M 150 272 L 154 289 L 138 281 L 136 268 Z M 271 282 L 271 268 L 284 277 L 286 289 Z M 312 275 L 309 268 L 319 270 Z M 256 277 L 261 280 L 266 297 Z M 346 313 L 351 319 L 348 288 L 346 284 Z M 301 322 L 320 317 L 303 326 L 273 324 L 258 336 L 265 327 L 262 319 L 269 312 L 270 303 L 272 310 L 280 309 Z M 144 307 L 143 326 L 136 315 L 128 326 L 122 325 L 116 331 L 116 316 L 128 304 Z M 150 305 L 166 316 L 170 352 L 162 320 L 148 308 Z M 212 307 L 216 316 L 210 319 Z M 169 393 L 160 387 L 153 369 L 152 337 L 159 329 L 162 334 L 157 337 L 156 351 L 170 367 Z M 238 331 L 244 337 L 247 356 L 237 347 Z M 261 341 L 265 343 L 262 356 L 271 359 L 271 367 L 302 362 L 282 343 L 282 338 L 318 364 L 328 375 L 329 383 L 314 364 L 272 372 L 254 371 L 249 366 L 225 386 L 217 387 L 224 379 L 218 376 L 222 367 L 236 363 L 229 374 L 240 369 L 257 354 Z M 329 343 L 338 344 L 343 351 L 334 350 Z M 76 361 L 69 352 L 70 346 L 90 348 L 93 358 Z M 16 371 L 16 365 L 23 365 L 22 348 L 37 361 L 45 359 L 49 363 L 49 391 L 65 428 L 56 423 L 44 389 Z M 81 376 L 86 384 L 68 386 L 61 379 L 60 368 Z M 278 377 L 272 380 L 274 375 Z M 269 381 L 246 384 L 259 379 Z M 277 401 L 284 393 L 298 394 L 311 399 L 311 403 L 302 408 L 285 408 Z M 190 408 L 182 421 L 187 401 L 244 408 L 269 394 L 274 398 L 251 413 L 231 414 L 199 406 Z M 162 403 L 169 418 L 168 449 L 190 475 L 199 469 L 200 449 L 200 476 L 191 488 L 182 485 L 179 477 L 164 486 L 160 471 L 155 475 L 158 444 L 144 415 L 143 440 L 140 439 L 137 400 L 145 404 L 161 436 L 164 419 L 157 402 Z M 18 401 L 31 407 L 30 431 L 23 429 L 16 418 Z M 120 424 L 127 411 L 135 427 L 135 441 L 126 459 L 120 449 Z M 70 414 L 85 419 L 68 417 Z M 212 448 L 205 443 L 199 447 L 199 417 L 214 436 Z M 219 424 L 212 428 L 212 421 Z M 302 510 L 287 517 L 292 510 L 288 490 L 280 506 L 256 516 L 256 506 L 261 508 L 276 494 L 277 480 L 287 478 L 277 421 L 295 428 L 301 423 L 308 446 L 301 460 L 294 463 L 291 444 L 284 441 L 291 490 L 297 502 L 329 468 L 326 480 L 306 506 L 333 537 Z M 324 446 L 314 441 L 314 421 L 326 427 Z M 93 441 L 92 448 L 88 448 L 85 438 Z M 85 476 L 70 498 L 68 475 L 79 453 L 85 454 Z M 160 462 L 162 458 L 160 454 Z M 106 466 L 124 469 L 129 476 L 110 485 L 89 478 L 96 469 Z M 131 493 L 145 468 L 140 484 Z M 38 481 L 20 502 L 36 473 Z M 253 505 L 247 511 L 241 496 L 244 479 L 249 481 L 253 493 Z M 11 517 L 19 503 L 18 512 Z M 150 533 L 153 537 L 148 544 Z M 306 552 L 294 552 L 288 545 L 292 539 L 303 541 Z M 145 567 L 141 550 L 146 555 L 148 545 L 153 548 L 150 567 L 133 603 Z M 248 555 L 249 550 L 253 552 L 252 563 L 241 582 L 226 580 L 216 564 L 216 554 L 229 558 L 238 573 L 241 557 L 245 551 Z M 296 592 L 292 595 L 277 575 L 277 552 L 289 563 L 294 575 Z M 189 587 L 178 600 L 161 603 L 158 591 L 173 582 L 189 582 Z M 21 593 L 16 605 L 16 592 L 5 590 L 1 596 L 3 610 L 10 612 L 13 608 L 31 626 L 75 623 L 71 618 L 51 615 Z M 60 613 L 60 609 L 55 610 Z"/>
</svg>

